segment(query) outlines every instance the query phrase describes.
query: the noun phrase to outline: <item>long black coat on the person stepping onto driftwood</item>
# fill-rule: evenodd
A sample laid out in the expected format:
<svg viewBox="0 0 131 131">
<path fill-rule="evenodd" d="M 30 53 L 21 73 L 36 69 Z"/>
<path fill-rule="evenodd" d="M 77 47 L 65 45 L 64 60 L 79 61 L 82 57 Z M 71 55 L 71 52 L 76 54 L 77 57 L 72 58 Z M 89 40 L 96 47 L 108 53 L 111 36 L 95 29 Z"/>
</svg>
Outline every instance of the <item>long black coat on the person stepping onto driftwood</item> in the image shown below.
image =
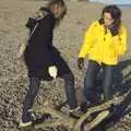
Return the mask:
<svg viewBox="0 0 131 131">
<path fill-rule="evenodd" d="M 28 69 L 28 76 L 52 80 L 48 73 L 50 66 L 58 68 L 58 76 L 71 73 L 71 71 L 61 58 L 60 52 L 52 46 L 56 19 L 48 9 L 45 11 L 48 14 L 38 22 L 38 26 L 31 36 L 24 59 Z"/>
</svg>

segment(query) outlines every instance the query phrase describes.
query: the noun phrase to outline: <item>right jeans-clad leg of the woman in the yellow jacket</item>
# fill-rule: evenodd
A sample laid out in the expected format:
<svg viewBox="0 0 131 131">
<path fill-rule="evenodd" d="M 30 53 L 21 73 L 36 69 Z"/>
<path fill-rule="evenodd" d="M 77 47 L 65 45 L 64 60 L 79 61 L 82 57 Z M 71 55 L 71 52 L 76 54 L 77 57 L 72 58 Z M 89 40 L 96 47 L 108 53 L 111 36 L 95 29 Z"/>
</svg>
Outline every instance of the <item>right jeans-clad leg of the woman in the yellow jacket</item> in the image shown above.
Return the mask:
<svg viewBox="0 0 131 131">
<path fill-rule="evenodd" d="M 109 98 L 111 98 L 114 69 L 115 69 L 115 66 L 103 64 L 103 70 L 104 70 L 103 90 L 104 90 L 105 100 L 108 100 Z"/>
</svg>

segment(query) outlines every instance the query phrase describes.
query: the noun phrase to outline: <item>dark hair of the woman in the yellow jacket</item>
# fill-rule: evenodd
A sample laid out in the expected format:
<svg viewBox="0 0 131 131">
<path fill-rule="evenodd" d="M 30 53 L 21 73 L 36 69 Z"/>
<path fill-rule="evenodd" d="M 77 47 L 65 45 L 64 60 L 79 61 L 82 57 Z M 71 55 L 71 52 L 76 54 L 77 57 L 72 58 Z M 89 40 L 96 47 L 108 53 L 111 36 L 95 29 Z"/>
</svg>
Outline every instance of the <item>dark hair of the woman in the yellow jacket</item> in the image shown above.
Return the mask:
<svg viewBox="0 0 131 131">
<path fill-rule="evenodd" d="M 114 24 L 118 27 L 120 26 L 121 10 L 117 5 L 112 4 L 104 8 L 102 12 L 102 17 L 99 19 L 99 24 L 104 24 L 104 13 L 110 13 L 111 17 L 114 19 Z"/>
</svg>

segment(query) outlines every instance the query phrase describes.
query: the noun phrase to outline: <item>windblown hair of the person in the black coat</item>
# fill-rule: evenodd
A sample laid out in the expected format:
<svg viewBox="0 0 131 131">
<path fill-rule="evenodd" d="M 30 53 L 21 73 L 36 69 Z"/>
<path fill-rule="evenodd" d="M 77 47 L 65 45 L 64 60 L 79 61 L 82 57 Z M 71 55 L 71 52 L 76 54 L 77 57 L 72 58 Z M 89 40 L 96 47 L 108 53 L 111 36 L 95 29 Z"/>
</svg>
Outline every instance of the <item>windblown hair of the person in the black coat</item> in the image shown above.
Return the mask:
<svg viewBox="0 0 131 131">
<path fill-rule="evenodd" d="M 64 15 L 67 14 L 67 4 L 64 2 L 64 0 L 50 0 L 45 8 L 51 10 L 51 8 L 58 4 L 62 8 L 62 11 L 60 13 L 60 15 L 56 19 L 56 25 L 59 25 L 61 20 L 64 17 Z"/>
</svg>

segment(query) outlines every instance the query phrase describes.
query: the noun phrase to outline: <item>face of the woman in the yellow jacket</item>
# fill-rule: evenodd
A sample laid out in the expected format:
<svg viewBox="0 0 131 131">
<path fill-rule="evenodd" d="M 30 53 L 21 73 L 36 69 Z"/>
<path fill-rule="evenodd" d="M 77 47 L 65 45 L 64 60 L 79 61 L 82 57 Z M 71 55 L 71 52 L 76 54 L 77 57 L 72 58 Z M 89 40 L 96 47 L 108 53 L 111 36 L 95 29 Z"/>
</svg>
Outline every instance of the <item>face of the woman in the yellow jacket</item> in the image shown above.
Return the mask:
<svg viewBox="0 0 131 131">
<path fill-rule="evenodd" d="M 110 13 L 104 13 L 104 22 L 106 26 L 109 26 L 112 24 L 114 19 L 111 17 Z"/>
</svg>

